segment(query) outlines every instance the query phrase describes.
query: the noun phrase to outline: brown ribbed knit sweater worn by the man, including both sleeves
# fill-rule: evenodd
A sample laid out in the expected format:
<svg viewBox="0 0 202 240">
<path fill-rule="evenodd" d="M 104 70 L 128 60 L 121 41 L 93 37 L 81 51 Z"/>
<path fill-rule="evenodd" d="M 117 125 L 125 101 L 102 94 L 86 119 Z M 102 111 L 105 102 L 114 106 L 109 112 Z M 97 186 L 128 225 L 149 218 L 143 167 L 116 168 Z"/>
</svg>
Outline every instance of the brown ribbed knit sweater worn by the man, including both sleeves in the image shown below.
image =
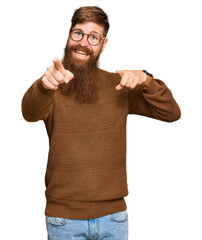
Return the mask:
<svg viewBox="0 0 202 240">
<path fill-rule="evenodd" d="M 125 210 L 127 115 L 180 118 L 172 93 L 158 79 L 118 91 L 119 75 L 99 70 L 98 82 L 93 103 L 47 90 L 41 79 L 23 97 L 24 118 L 43 120 L 49 136 L 47 216 L 90 219 Z"/>
</svg>

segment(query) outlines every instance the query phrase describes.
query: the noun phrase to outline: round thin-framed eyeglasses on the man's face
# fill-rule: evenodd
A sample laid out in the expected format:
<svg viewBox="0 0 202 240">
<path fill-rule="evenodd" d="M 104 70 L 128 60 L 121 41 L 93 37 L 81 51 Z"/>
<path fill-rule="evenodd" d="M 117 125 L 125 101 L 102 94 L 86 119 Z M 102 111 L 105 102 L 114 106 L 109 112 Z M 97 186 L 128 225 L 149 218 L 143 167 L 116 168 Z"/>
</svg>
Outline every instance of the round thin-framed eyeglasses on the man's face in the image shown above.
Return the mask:
<svg viewBox="0 0 202 240">
<path fill-rule="evenodd" d="M 80 42 L 83 39 L 84 35 L 87 36 L 87 41 L 92 46 L 98 45 L 102 40 L 105 39 L 105 37 L 101 38 L 96 33 L 90 33 L 90 34 L 83 33 L 80 29 L 75 29 L 70 31 L 70 37 L 75 42 Z"/>
</svg>

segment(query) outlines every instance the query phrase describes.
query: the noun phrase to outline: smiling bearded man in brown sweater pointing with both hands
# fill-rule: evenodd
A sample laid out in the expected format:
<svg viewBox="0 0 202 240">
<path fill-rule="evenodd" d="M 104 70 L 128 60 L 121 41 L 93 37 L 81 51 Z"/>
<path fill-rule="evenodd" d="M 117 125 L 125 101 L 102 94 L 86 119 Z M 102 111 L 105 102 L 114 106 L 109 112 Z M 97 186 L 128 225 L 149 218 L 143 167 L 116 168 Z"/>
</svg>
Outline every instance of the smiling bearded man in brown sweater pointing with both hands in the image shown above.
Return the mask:
<svg viewBox="0 0 202 240">
<path fill-rule="evenodd" d="M 50 240 L 128 239 L 127 115 L 180 118 L 170 90 L 148 72 L 98 68 L 108 29 L 99 7 L 77 9 L 62 62 L 54 58 L 22 100 L 24 118 L 43 120 L 49 136 Z"/>
</svg>

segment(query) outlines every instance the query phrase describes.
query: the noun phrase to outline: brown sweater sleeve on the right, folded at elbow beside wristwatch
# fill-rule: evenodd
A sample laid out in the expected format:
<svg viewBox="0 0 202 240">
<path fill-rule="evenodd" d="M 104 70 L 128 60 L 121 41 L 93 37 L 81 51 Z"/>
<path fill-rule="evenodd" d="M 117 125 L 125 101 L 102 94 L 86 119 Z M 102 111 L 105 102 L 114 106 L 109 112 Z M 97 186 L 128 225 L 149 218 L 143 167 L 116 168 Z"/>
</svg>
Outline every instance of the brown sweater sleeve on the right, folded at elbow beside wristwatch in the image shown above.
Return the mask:
<svg viewBox="0 0 202 240">
<path fill-rule="evenodd" d="M 128 113 L 138 114 L 173 122 L 180 118 L 181 112 L 171 91 L 159 79 L 152 79 L 148 85 L 136 86 L 128 92 Z"/>
</svg>

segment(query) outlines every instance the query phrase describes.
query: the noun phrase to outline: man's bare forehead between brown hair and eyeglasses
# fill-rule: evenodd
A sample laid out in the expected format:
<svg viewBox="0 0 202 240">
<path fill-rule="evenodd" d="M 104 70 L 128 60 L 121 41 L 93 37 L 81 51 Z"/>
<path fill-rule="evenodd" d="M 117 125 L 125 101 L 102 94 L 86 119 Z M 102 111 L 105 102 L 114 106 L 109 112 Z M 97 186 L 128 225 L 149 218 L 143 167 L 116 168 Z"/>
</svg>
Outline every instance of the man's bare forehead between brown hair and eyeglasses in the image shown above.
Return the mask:
<svg viewBox="0 0 202 240">
<path fill-rule="evenodd" d="M 81 29 L 84 33 L 96 32 L 100 35 L 103 35 L 104 31 L 103 26 L 94 22 L 78 23 L 74 26 L 73 29 Z"/>
</svg>

